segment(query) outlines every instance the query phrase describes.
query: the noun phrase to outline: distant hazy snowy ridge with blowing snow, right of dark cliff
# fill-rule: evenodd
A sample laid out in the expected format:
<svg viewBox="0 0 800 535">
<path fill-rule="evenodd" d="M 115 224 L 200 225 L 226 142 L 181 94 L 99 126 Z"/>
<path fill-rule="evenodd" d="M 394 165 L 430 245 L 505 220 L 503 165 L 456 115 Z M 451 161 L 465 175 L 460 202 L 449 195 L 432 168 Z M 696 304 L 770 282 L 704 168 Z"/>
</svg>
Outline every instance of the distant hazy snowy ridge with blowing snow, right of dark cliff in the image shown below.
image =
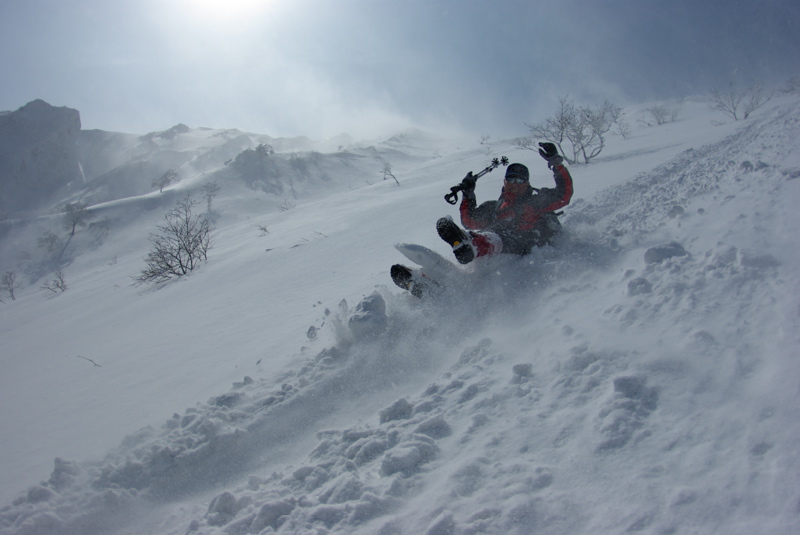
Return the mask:
<svg viewBox="0 0 800 535">
<path fill-rule="evenodd" d="M 168 171 L 175 174 L 174 182 L 238 181 L 284 198 L 307 199 L 311 190 L 329 194 L 380 180 L 385 164 L 404 170 L 429 159 L 442 143 L 415 130 L 372 143 L 357 143 L 345 134 L 314 141 L 184 124 L 143 136 L 87 130 L 78 143 L 83 177 L 65 188 L 64 201 L 98 205 L 145 195 L 158 189 L 154 182 Z M 268 152 L 245 161 L 259 145 Z"/>
</svg>

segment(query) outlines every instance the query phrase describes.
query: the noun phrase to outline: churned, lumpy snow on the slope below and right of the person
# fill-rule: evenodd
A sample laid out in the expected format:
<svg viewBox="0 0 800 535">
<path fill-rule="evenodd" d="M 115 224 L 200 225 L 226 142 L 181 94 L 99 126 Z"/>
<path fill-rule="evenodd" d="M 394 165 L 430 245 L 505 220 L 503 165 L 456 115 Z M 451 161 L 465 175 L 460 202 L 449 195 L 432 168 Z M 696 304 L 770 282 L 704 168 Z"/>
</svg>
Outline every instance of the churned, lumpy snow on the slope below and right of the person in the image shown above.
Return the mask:
<svg viewBox="0 0 800 535">
<path fill-rule="evenodd" d="M 784 105 L 441 300 L 343 301 L 301 367 L 57 459 L 0 533 L 796 533 L 798 138 Z"/>
</svg>

